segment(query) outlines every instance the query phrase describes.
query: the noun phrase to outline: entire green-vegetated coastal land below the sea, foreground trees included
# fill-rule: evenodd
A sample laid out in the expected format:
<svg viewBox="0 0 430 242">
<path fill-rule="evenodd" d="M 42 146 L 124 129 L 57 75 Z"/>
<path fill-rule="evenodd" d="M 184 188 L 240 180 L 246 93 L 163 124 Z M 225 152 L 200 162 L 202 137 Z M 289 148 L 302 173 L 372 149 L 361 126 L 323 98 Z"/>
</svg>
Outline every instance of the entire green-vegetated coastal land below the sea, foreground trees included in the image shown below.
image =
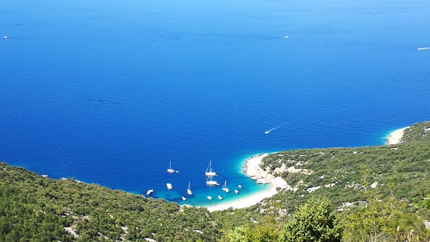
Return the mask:
<svg viewBox="0 0 430 242">
<path fill-rule="evenodd" d="M 278 152 L 262 168 L 291 189 L 211 214 L 0 162 L 0 241 L 429 241 L 429 165 L 430 122 L 398 145 Z"/>
</svg>

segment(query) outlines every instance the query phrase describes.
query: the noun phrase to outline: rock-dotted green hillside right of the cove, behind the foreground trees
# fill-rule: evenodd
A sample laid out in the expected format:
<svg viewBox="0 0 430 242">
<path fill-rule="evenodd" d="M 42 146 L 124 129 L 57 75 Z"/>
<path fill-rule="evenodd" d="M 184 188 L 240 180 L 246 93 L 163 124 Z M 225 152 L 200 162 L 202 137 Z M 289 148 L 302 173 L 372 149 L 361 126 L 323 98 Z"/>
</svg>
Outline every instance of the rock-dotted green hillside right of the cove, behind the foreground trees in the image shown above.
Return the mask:
<svg viewBox="0 0 430 242">
<path fill-rule="evenodd" d="M 276 152 L 264 158 L 261 167 L 282 177 L 291 189 L 234 214 L 214 213 L 224 226 L 232 228 L 267 215 L 288 219 L 310 197 L 328 197 L 332 209 L 359 204 L 365 200 L 363 167 L 368 172 L 367 187 L 381 198 L 394 194 L 430 220 L 430 211 L 421 206 L 430 194 L 430 122 L 412 125 L 396 145 Z"/>
</svg>

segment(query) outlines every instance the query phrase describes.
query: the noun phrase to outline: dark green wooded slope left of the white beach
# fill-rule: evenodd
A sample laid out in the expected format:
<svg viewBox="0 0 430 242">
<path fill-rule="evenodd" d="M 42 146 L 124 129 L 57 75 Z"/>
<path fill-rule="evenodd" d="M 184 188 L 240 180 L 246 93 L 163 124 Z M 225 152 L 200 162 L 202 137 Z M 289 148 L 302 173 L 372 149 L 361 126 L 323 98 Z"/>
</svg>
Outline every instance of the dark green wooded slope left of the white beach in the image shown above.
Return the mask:
<svg viewBox="0 0 430 242">
<path fill-rule="evenodd" d="M 42 178 L 0 162 L 0 241 L 214 241 L 218 230 L 205 208 Z"/>
</svg>

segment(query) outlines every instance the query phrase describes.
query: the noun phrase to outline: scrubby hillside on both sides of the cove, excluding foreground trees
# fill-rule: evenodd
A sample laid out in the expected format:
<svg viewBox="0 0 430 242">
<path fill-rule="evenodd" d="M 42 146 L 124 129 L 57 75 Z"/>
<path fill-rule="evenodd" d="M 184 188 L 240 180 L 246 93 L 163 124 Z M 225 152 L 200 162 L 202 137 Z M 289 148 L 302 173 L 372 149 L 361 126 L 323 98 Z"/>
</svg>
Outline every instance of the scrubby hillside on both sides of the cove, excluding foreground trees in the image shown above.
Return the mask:
<svg viewBox="0 0 430 242">
<path fill-rule="evenodd" d="M 275 219 L 270 224 L 280 229 L 315 197 L 328 197 L 331 210 L 354 217 L 352 208 L 366 201 L 365 189 L 376 201 L 396 197 L 407 204 L 400 212 L 419 225 L 405 228 L 422 231 L 422 221 L 430 221 L 430 204 L 422 205 L 430 194 L 429 167 L 430 122 L 412 125 L 397 145 L 277 152 L 264 158 L 262 168 L 290 189 L 250 208 L 211 214 L 0 162 L 0 241 L 226 241 L 223 233 L 242 225 Z"/>
</svg>

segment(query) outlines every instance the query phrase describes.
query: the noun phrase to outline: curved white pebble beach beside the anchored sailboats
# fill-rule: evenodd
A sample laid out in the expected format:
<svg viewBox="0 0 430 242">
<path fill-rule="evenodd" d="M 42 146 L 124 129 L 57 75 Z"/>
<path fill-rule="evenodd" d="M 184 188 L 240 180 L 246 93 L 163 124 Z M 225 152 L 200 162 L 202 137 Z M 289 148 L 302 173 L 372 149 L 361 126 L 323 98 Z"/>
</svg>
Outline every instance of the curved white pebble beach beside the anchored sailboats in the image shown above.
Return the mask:
<svg viewBox="0 0 430 242">
<path fill-rule="evenodd" d="M 268 155 L 269 154 L 260 154 L 258 156 L 253 156 L 245 161 L 242 168 L 242 171 L 247 174 L 250 179 L 255 176 L 264 179 L 269 184 L 267 189 L 246 195 L 245 197 L 240 197 L 239 199 L 234 199 L 233 201 L 224 202 L 223 204 L 208 206 L 207 210 L 213 212 L 217 210 L 226 210 L 228 208 L 247 208 L 258 204 L 264 198 L 271 197 L 278 193 L 278 187 L 281 189 L 288 187 L 284 179 L 275 178 L 275 176 L 261 169 L 260 164 L 262 159 Z"/>
</svg>

